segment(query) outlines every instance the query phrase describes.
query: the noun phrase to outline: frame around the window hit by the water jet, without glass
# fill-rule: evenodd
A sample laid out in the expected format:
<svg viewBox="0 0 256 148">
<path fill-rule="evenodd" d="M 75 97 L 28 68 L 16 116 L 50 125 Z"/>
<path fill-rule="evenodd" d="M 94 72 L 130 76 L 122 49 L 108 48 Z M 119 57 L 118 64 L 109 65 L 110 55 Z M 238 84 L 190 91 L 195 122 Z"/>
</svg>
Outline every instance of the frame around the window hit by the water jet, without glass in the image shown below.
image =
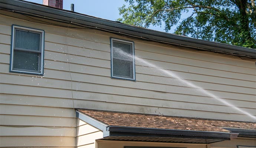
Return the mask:
<svg viewBox="0 0 256 148">
<path fill-rule="evenodd" d="M 114 76 L 113 74 L 113 41 L 117 41 L 119 43 L 123 44 L 131 44 L 132 48 L 132 75 L 133 78 L 125 78 L 125 77 L 120 77 L 120 76 Z M 122 79 L 122 80 L 130 80 L 130 81 L 136 81 L 135 78 L 135 52 L 134 52 L 134 42 L 133 41 L 128 41 L 128 40 L 123 40 L 123 39 L 118 39 L 118 38 L 110 38 L 110 55 L 111 55 L 111 78 L 116 78 L 116 79 Z M 119 60 L 123 60 L 122 58 L 117 58 Z"/>
</svg>

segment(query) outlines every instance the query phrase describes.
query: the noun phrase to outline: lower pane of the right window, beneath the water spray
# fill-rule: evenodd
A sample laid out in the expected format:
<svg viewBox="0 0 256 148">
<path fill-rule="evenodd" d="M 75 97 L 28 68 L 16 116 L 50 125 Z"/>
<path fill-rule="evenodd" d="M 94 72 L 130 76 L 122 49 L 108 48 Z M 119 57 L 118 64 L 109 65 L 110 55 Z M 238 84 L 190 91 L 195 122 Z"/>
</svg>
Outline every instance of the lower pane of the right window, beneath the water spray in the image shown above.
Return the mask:
<svg viewBox="0 0 256 148">
<path fill-rule="evenodd" d="M 113 76 L 133 79 L 132 61 L 113 58 Z"/>
</svg>

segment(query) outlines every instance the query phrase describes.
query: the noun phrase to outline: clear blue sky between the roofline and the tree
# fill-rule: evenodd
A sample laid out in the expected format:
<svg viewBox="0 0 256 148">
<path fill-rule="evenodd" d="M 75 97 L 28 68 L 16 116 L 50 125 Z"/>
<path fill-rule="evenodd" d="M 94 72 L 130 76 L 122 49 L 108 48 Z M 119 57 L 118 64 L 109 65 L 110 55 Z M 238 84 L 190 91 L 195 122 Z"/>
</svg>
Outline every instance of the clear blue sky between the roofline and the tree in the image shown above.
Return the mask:
<svg viewBox="0 0 256 148">
<path fill-rule="evenodd" d="M 26 0 L 34 3 L 43 4 L 43 0 Z M 120 18 L 118 7 L 122 7 L 124 0 L 63 0 L 63 9 L 70 10 L 71 4 L 75 5 L 75 11 L 89 16 L 116 21 Z M 150 26 L 149 29 L 164 31 L 164 26 Z M 170 33 L 173 30 L 169 31 Z"/>
</svg>

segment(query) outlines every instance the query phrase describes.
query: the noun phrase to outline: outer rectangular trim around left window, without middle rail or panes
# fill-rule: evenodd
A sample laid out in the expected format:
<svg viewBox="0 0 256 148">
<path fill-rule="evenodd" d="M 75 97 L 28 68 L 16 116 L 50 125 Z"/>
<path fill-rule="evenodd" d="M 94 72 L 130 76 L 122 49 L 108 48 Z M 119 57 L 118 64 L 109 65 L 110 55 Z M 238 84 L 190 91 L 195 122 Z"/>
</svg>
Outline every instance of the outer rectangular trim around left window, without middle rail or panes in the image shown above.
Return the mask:
<svg viewBox="0 0 256 148">
<path fill-rule="evenodd" d="M 13 55 L 14 55 L 14 34 L 15 34 L 15 29 L 23 29 L 23 30 L 29 30 L 29 31 L 34 31 L 41 33 L 41 46 L 40 46 L 40 72 L 33 72 L 33 71 L 22 71 L 22 70 L 13 70 Z M 22 26 L 16 26 L 12 25 L 12 46 L 11 46 L 11 59 L 10 59 L 10 72 L 14 73 L 24 73 L 24 74 L 36 74 L 36 75 L 43 75 L 43 61 L 44 61 L 44 41 L 45 41 L 45 31 L 44 30 L 38 30 L 38 29 L 33 29 L 33 28 L 28 28 L 28 27 L 22 27 Z M 25 51 L 25 50 L 24 50 Z"/>
</svg>

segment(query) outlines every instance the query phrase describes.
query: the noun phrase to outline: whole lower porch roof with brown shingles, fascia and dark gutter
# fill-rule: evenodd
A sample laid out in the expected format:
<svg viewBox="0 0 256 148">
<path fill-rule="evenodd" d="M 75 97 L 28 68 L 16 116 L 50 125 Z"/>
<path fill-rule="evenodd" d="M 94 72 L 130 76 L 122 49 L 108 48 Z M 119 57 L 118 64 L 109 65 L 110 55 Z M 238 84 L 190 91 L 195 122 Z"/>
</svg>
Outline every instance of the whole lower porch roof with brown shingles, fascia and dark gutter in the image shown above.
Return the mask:
<svg viewBox="0 0 256 148">
<path fill-rule="evenodd" d="M 150 141 L 152 137 L 157 137 L 155 141 L 174 142 L 178 139 L 184 143 L 211 143 L 237 136 L 256 138 L 255 122 L 86 109 L 77 109 L 77 117 L 95 127 L 102 124 L 103 128 L 99 129 L 105 130 L 104 139 L 111 140 L 133 138 L 133 141 L 140 141 L 148 138 L 147 141 Z"/>
</svg>

